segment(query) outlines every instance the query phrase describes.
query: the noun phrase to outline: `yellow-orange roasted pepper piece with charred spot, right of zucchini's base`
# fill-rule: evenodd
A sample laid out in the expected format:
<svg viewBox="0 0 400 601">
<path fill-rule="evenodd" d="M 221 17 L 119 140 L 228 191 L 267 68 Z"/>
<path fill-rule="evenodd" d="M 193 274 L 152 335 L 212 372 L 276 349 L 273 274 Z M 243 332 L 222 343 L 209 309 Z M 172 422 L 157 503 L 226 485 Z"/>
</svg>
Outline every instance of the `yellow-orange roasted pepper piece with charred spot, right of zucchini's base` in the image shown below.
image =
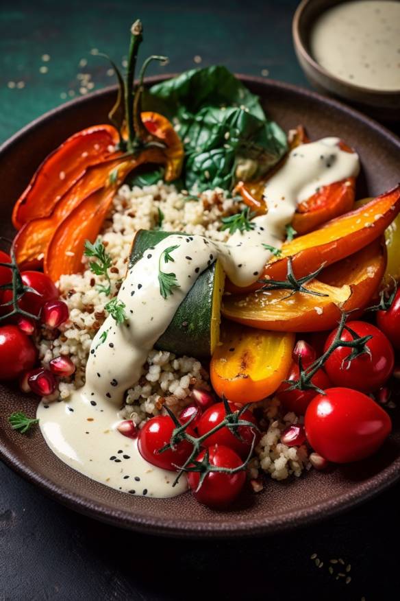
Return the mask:
<svg viewBox="0 0 400 601">
<path fill-rule="evenodd" d="M 277 390 L 288 375 L 295 335 L 223 323 L 222 344 L 210 364 L 212 386 L 234 403 L 256 402 Z"/>
</svg>

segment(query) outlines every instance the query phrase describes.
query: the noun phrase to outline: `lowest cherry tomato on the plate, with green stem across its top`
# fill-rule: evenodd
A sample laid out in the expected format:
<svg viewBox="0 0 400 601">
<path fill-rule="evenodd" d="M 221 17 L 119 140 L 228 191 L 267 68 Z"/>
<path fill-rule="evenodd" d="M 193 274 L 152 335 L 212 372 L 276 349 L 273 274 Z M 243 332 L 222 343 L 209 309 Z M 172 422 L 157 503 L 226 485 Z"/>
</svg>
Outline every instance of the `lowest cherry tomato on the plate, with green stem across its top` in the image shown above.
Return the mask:
<svg viewBox="0 0 400 601">
<path fill-rule="evenodd" d="M 242 460 L 235 451 L 224 445 L 209 447 L 209 462 L 211 465 L 234 469 L 242 465 Z M 203 460 L 205 449 L 196 457 L 197 461 Z M 209 507 L 226 507 L 240 493 L 246 481 L 245 470 L 236 473 L 212 471 L 205 476 L 199 490 L 200 475 L 197 471 L 188 472 L 188 484 L 193 495 L 199 503 Z"/>
</svg>

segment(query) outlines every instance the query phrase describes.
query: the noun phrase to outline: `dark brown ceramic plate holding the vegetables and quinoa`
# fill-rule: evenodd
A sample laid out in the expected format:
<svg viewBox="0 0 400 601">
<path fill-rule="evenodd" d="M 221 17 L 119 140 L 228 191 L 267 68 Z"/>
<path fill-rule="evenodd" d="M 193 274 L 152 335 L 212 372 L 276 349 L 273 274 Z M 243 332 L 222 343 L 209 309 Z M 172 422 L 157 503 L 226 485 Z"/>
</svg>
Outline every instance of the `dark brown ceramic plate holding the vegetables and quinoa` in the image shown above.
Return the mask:
<svg viewBox="0 0 400 601">
<path fill-rule="evenodd" d="M 158 81 L 160 78 L 153 80 Z M 373 196 L 399 182 L 400 140 L 355 111 L 294 86 L 242 77 L 260 95 L 268 113 L 284 128 L 303 123 L 312 139 L 338 135 L 358 150 L 362 175 L 358 195 Z M 107 121 L 114 89 L 79 98 L 18 132 L 0 149 L 0 234 L 12 236 L 10 215 L 45 156 L 66 137 Z M 12 386 L 0 386 L 0 452 L 10 467 L 68 507 L 103 521 L 152 534 L 175 537 L 238 537 L 277 532 L 321 520 L 373 497 L 400 475 L 400 425 L 370 460 L 311 471 L 285 482 L 268 480 L 264 491 L 249 494 L 229 511 L 212 511 L 187 494 L 175 499 L 132 497 L 89 480 L 47 448 L 39 429 L 21 436 L 10 429 L 13 411 L 34 413 L 35 401 Z"/>
</svg>

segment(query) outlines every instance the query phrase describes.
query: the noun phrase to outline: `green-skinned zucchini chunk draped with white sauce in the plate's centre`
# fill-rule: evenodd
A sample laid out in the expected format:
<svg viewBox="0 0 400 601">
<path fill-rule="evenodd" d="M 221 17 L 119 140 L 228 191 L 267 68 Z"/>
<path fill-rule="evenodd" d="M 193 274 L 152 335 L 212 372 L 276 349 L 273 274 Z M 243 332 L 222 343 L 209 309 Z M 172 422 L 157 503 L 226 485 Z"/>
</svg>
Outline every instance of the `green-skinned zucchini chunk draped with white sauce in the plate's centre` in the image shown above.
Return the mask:
<svg viewBox="0 0 400 601">
<path fill-rule="evenodd" d="M 182 232 L 179 232 L 182 235 Z M 150 246 L 155 246 L 171 232 L 140 230 L 132 246 L 129 267 Z M 190 357 L 210 357 L 219 341 L 221 296 L 224 272 L 219 261 L 199 275 L 175 316 L 155 344 L 160 351 L 171 351 Z"/>
</svg>

